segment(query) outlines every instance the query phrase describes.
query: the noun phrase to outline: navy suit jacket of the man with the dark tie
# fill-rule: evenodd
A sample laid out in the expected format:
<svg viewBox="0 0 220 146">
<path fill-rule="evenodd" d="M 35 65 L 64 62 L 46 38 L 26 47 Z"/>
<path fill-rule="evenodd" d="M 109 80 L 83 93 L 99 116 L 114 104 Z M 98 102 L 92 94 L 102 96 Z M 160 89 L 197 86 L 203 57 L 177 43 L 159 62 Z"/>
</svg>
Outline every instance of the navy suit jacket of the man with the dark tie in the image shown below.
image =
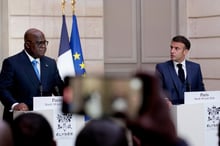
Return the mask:
<svg viewBox="0 0 220 146">
<path fill-rule="evenodd" d="M 173 104 L 184 103 L 185 91 L 204 91 L 203 77 L 200 65 L 186 60 L 187 77 L 182 83 L 175 71 L 173 61 L 156 65 L 156 72 L 161 78 L 162 87 Z"/>
</svg>

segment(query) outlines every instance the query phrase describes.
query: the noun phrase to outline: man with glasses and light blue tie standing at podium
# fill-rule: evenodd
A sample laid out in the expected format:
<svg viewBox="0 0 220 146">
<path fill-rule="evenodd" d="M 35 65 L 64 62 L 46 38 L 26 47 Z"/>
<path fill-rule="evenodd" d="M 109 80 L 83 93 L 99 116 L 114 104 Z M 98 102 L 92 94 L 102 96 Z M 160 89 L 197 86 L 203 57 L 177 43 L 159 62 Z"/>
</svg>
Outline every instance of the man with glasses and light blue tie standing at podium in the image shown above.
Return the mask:
<svg viewBox="0 0 220 146">
<path fill-rule="evenodd" d="M 0 100 L 3 119 L 9 123 L 14 110 L 33 109 L 33 97 L 60 95 L 63 81 L 54 59 L 46 57 L 48 41 L 38 29 L 24 34 L 24 50 L 3 61 L 0 74 Z M 35 61 L 36 66 L 33 65 Z M 36 68 L 35 68 L 36 67 Z"/>
</svg>

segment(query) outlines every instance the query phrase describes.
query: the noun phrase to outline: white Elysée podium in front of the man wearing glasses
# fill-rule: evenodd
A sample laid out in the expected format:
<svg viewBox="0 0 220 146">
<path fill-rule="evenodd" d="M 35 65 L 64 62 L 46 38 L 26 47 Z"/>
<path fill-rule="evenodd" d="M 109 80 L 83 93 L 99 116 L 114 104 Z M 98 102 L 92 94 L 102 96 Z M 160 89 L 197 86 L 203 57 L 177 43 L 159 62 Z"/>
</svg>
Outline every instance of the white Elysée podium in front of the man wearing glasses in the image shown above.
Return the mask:
<svg viewBox="0 0 220 146">
<path fill-rule="evenodd" d="M 57 146 L 74 146 L 76 136 L 84 127 L 84 116 L 63 114 L 61 112 L 62 97 L 34 97 L 34 110 L 15 111 L 14 118 L 20 114 L 35 112 L 42 114 L 50 123 Z"/>
</svg>

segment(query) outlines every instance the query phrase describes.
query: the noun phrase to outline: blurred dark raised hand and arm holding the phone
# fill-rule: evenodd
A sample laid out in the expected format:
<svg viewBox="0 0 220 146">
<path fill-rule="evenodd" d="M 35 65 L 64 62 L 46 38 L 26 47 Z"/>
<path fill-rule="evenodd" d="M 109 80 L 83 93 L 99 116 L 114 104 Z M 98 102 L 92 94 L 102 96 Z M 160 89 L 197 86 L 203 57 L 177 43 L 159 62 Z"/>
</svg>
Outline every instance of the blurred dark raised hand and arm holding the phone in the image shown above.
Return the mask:
<svg viewBox="0 0 220 146">
<path fill-rule="evenodd" d="M 158 78 L 150 72 L 137 72 L 135 77 L 143 81 L 143 102 L 138 117 L 128 122 L 136 145 L 172 146 L 179 143 L 172 122 L 165 94 Z"/>
</svg>

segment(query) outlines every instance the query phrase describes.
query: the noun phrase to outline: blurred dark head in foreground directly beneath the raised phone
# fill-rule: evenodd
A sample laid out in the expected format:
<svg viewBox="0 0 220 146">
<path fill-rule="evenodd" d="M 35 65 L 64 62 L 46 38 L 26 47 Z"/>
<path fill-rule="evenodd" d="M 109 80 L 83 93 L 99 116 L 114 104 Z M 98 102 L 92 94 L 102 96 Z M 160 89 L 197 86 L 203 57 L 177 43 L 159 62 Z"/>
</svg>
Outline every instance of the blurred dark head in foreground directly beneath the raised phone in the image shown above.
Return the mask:
<svg viewBox="0 0 220 146">
<path fill-rule="evenodd" d="M 128 146 L 126 129 L 110 119 L 89 121 L 76 138 L 75 146 Z"/>
</svg>

